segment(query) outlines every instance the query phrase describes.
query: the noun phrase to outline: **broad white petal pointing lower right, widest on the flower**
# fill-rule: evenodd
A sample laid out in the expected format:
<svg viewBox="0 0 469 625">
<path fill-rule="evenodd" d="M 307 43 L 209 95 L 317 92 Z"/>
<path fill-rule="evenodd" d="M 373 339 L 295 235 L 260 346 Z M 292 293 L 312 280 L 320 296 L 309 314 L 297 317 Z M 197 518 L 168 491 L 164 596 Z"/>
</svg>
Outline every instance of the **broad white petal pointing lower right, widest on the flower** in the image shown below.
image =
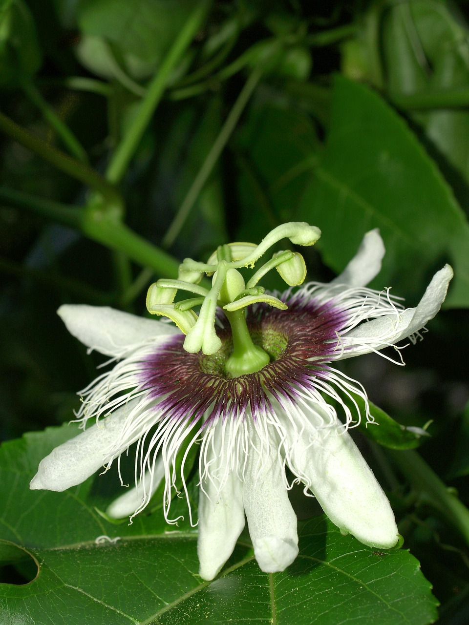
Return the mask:
<svg viewBox="0 0 469 625">
<path fill-rule="evenodd" d="M 291 470 L 341 531 L 369 546 L 393 547 L 398 529 L 383 489 L 340 422 L 321 427 L 323 419 L 330 420 L 321 412 L 311 405 L 310 425 L 301 437 L 288 432 Z"/>
</svg>

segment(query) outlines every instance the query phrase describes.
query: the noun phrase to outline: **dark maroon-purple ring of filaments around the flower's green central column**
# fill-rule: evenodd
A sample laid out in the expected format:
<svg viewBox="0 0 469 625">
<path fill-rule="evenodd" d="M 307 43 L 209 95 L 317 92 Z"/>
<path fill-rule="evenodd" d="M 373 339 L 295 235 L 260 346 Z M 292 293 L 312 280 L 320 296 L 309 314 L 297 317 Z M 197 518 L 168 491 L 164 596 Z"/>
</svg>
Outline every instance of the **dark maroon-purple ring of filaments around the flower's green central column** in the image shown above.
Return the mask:
<svg viewBox="0 0 469 625">
<path fill-rule="evenodd" d="M 336 334 L 346 324 L 346 314 L 319 302 L 291 299 L 288 311 L 260 304 L 248 312 L 246 324 L 255 346 L 269 355 L 260 370 L 233 377 L 226 362 L 233 350 L 229 327 L 218 329 L 221 346 L 214 354 L 191 354 L 184 350 L 183 337 L 174 336 L 142 367 L 141 383 L 158 409 L 168 418 L 200 419 L 208 412 L 218 417 L 252 418 L 275 401 L 318 387 L 330 375 L 327 362 L 333 359 Z"/>
</svg>

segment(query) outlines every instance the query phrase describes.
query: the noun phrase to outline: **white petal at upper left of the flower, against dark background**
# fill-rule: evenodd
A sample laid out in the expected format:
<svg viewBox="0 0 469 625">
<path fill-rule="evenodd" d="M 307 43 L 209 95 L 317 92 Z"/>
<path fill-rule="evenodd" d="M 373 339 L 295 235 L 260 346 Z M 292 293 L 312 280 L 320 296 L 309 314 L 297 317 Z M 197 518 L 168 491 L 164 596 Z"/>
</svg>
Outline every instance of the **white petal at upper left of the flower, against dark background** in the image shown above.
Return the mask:
<svg viewBox="0 0 469 625">
<path fill-rule="evenodd" d="M 169 324 L 108 306 L 64 304 L 57 312 L 73 336 L 106 356 L 124 357 L 136 344 L 180 334 Z"/>
</svg>

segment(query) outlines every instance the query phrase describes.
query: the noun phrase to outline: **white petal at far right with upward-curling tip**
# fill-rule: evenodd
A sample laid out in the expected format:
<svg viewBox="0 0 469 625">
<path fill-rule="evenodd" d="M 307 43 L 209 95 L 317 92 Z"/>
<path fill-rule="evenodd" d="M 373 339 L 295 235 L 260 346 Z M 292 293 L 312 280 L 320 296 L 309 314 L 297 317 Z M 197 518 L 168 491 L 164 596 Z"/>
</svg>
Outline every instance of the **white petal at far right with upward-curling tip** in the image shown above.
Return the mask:
<svg viewBox="0 0 469 625">
<path fill-rule="evenodd" d="M 425 294 L 416 308 L 407 308 L 394 314 L 366 321 L 347 332 L 343 339 L 345 349 L 339 359 L 351 358 L 368 354 L 377 349 L 393 345 L 401 339 L 418 332 L 425 324 L 435 317 L 445 301 L 448 285 L 453 277 L 453 269 L 445 265 L 436 272 L 426 288 Z"/>
</svg>

